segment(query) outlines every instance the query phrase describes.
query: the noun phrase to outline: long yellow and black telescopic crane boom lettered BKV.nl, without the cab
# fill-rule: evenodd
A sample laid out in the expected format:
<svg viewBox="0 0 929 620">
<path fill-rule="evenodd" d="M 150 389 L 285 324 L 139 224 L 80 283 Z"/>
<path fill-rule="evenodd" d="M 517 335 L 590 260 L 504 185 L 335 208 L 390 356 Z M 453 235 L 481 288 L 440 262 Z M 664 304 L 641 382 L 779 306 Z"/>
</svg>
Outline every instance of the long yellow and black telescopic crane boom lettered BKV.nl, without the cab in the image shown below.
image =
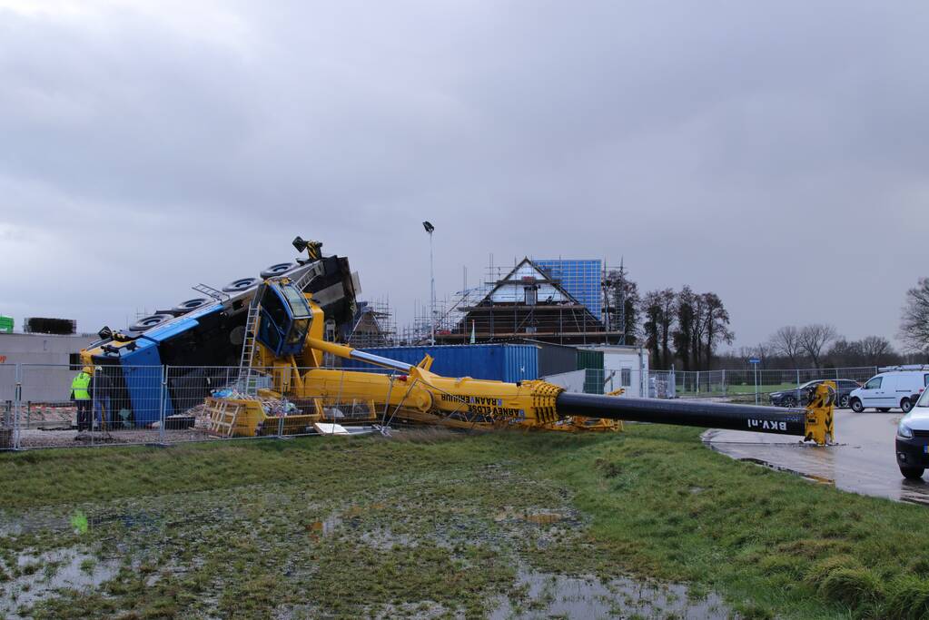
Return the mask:
<svg viewBox="0 0 929 620">
<path fill-rule="evenodd" d="M 545 381 L 502 383 L 470 378 L 453 379 L 441 377 L 426 368 L 358 351 L 344 344 L 316 338 L 307 339 L 307 344 L 339 357 L 399 370 L 405 373 L 400 380 L 407 382 L 409 387 L 394 390 L 383 375 L 324 370 L 308 373 L 308 385 L 315 382 L 328 393 L 334 390 L 336 384 L 342 389 L 348 381 L 353 389 L 375 402 L 387 402 L 408 414 L 412 413 L 412 409 L 416 409 L 416 420 L 420 421 L 449 421 L 450 414 L 454 414 L 456 420 L 479 421 L 481 424 L 516 424 L 544 428 L 557 420 L 585 418 L 798 435 L 805 441 L 816 442 L 819 445 L 834 441 L 832 407 L 835 386 L 830 385 L 829 381 L 818 386 L 812 402 L 805 409 L 754 407 L 685 400 L 572 394 Z M 413 402 L 416 405 L 411 407 Z"/>
</svg>

